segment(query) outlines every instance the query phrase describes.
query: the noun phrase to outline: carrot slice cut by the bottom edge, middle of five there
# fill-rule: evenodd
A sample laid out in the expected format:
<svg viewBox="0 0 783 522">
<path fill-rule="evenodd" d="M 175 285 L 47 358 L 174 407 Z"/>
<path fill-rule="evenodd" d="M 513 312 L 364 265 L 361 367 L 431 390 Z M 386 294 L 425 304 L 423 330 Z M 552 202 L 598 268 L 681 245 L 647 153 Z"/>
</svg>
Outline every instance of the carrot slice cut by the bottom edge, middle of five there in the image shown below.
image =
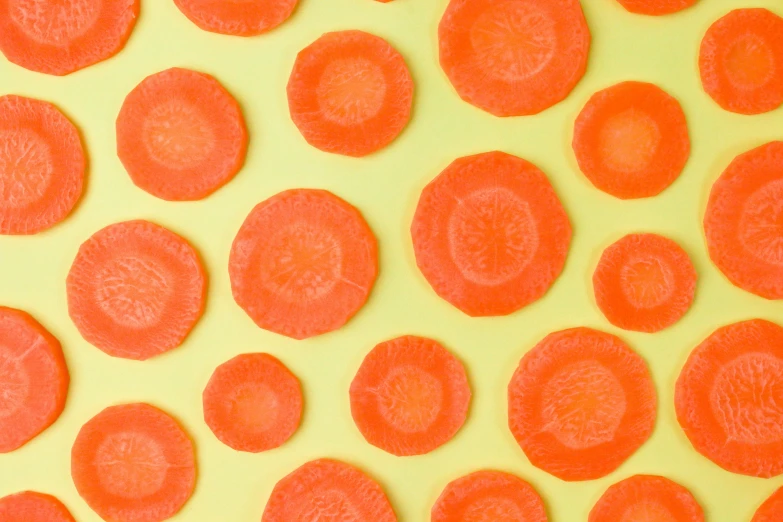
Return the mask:
<svg viewBox="0 0 783 522">
<path fill-rule="evenodd" d="M 516 475 L 476 471 L 450 482 L 432 507 L 431 522 L 547 522 L 538 492 Z"/>
</svg>

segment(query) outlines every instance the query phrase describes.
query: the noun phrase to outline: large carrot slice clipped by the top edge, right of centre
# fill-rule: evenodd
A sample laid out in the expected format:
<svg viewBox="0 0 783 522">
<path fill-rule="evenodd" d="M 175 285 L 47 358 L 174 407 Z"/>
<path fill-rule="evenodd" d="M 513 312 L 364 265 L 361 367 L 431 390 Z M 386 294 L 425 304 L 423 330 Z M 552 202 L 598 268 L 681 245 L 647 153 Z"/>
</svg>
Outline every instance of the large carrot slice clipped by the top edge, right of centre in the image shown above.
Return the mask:
<svg viewBox="0 0 783 522">
<path fill-rule="evenodd" d="M 451 0 L 438 27 L 440 65 L 457 94 L 495 116 L 564 100 L 587 67 L 579 0 Z"/>
</svg>

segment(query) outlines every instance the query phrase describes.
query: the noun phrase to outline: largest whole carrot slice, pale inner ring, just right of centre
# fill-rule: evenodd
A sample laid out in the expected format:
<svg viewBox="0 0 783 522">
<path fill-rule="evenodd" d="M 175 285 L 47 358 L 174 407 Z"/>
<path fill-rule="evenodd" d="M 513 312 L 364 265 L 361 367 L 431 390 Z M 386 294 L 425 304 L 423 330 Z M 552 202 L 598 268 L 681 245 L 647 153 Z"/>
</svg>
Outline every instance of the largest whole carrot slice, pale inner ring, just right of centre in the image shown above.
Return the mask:
<svg viewBox="0 0 783 522">
<path fill-rule="evenodd" d="M 439 296 L 471 316 L 507 315 L 560 275 L 571 223 L 535 165 L 488 152 L 454 161 L 424 188 L 411 235 Z"/>
</svg>

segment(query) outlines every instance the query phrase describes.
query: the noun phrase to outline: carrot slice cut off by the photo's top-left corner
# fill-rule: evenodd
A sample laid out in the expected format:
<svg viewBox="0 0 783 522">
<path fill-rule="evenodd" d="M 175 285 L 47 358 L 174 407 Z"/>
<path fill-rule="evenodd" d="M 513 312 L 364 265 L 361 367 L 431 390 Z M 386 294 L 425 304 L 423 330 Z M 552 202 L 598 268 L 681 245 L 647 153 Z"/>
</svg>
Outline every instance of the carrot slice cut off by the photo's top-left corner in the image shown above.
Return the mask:
<svg viewBox="0 0 783 522">
<path fill-rule="evenodd" d="M 29 69 L 64 76 L 125 47 L 139 0 L 0 0 L 0 51 Z"/>
</svg>

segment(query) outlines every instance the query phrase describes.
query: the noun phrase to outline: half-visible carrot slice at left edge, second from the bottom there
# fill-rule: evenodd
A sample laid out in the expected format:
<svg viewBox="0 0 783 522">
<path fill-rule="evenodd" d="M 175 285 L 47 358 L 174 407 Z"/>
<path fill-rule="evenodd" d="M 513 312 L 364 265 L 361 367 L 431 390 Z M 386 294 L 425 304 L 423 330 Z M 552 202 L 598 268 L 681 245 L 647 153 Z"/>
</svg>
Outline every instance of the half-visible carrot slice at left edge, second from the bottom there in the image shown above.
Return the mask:
<svg viewBox="0 0 783 522">
<path fill-rule="evenodd" d="M 0 453 L 22 447 L 57 420 L 68 383 L 57 339 L 29 314 L 0 306 Z"/>
</svg>

